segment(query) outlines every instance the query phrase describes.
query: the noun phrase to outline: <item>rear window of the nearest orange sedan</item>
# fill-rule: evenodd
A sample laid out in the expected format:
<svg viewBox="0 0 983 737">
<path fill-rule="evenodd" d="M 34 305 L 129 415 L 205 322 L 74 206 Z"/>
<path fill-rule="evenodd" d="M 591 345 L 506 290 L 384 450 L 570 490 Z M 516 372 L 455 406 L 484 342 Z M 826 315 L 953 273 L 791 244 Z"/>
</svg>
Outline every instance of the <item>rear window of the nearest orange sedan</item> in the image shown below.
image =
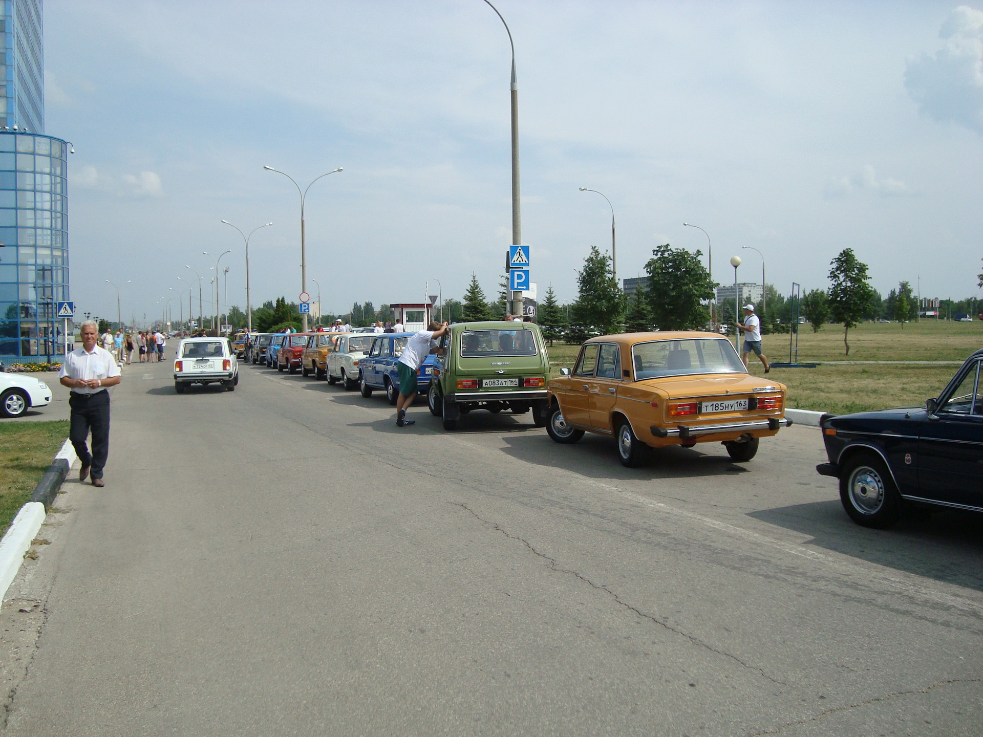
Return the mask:
<svg viewBox="0 0 983 737">
<path fill-rule="evenodd" d="M 635 379 L 689 373 L 746 373 L 730 341 L 723 338 L 657 340 L 631 347 Z"/>
</svg>

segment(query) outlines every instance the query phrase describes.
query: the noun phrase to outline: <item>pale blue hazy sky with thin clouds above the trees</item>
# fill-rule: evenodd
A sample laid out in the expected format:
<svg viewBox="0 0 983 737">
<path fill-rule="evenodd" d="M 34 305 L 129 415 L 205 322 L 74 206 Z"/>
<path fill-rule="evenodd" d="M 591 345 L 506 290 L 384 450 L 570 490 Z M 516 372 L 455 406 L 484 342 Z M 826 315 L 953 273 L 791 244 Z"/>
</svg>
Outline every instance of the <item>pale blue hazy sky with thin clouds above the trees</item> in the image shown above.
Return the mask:
<svg viewBox="0 0 983 737">
<path fill-rule="evenodd" d="M 515 42 L 522 241 L 577 296 L 661 244 L 713 276 L 828 286 L 851 248 L 882 294 L 978 292 L 983 5 L 499 0 Z M 77 311 L 161 313 L 229 266 L 227 303 L 497 292 L 511 243 L 508 36 L 482 0 L 44 4 L 46 133 L 69 161 Z M 744 249 L 742 247 L 748 247 Z M 318 284 L 314 280 L 317 280 Z M 439 280 L 437 285 L 436 280 Z M 129 282 L 129 283 L 128 283 Z M 221 301 L 226 302 L 220 288 Z M 197 288 L 195 290 L 197 292 Z M 187 295 L 187 291 L 184 292 Z M 196 299 L 197 303 L 197 299 Z M 187 297 L 184 298 L 185 310 Z M 197 310 L 197 305 L 196 305 Z M 177 315 L 178 302 L 172 302 Z"/>
</svg>

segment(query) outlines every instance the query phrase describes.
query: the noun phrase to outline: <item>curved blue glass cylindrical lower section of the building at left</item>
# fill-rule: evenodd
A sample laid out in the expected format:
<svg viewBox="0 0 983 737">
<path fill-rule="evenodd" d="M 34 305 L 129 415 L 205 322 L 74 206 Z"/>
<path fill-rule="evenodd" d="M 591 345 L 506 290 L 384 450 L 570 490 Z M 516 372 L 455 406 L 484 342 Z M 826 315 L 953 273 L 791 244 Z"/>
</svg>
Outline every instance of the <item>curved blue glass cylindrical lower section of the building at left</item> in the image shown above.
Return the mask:
<svg viewBox="0 0 983 737">
<path fill-rule="evenodd" d="M 64 351 L 69 296 L 68 159 L 60 139 L 0 131 L 0 361 Z"/>
</svg>

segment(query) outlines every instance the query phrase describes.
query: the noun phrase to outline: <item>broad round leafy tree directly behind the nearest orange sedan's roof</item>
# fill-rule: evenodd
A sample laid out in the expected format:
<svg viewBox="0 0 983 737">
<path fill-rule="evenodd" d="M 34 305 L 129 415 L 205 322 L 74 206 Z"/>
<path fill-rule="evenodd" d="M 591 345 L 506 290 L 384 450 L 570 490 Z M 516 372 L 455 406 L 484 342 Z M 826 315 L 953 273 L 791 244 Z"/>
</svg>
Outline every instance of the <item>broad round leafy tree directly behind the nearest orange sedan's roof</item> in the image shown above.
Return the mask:
<svg viewBox="0 0 983 737">
<path fill-rule="evenodd" d="M 656 324 L 663 330 L 702 328 L 709 311 L 701 301 L 714 299 L 717 286 L 700 259 L 702 254 L 673 249 L 667 243 L 652 254 L 645 270 L 649 272 L 649 305 Z"/>
</svg>

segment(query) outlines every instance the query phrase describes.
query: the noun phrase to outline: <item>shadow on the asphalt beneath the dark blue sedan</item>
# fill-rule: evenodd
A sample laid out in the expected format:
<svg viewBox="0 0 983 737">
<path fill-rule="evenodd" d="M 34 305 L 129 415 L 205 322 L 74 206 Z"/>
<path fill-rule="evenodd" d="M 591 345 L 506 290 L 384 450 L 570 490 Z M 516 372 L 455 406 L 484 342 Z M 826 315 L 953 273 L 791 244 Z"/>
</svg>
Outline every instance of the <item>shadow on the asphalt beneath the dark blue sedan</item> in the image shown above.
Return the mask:
<svg viewBox="0 0 983 737">
<path fill-rule="evenodd" d="M 853 523 L 838 499 L 749 513 L 812 537 L 810 544 L 916 576 L 983 591 L 983 514 L 916 510 L 891 530 Z"/>
</svg>

